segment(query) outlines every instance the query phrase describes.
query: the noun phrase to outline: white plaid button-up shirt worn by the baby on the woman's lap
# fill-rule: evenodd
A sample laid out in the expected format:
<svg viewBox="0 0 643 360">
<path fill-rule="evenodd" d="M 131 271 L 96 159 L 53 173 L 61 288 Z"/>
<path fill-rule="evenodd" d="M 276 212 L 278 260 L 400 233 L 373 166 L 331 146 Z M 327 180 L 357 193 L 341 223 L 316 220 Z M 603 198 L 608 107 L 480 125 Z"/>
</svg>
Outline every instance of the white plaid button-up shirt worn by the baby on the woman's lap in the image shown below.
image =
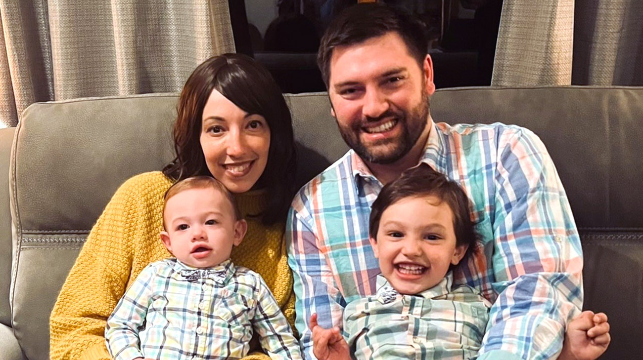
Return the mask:
<svg viewBox="0 0 643 360">
<path fill-rule="evenodd" d="M 107 320 L 115 360 L 240 359 L 257 332 L 272 359 L 301 359 L 299 344 L 260 275 L 230 260 L 196 269 L 147 266 Z"/>
</svg>

